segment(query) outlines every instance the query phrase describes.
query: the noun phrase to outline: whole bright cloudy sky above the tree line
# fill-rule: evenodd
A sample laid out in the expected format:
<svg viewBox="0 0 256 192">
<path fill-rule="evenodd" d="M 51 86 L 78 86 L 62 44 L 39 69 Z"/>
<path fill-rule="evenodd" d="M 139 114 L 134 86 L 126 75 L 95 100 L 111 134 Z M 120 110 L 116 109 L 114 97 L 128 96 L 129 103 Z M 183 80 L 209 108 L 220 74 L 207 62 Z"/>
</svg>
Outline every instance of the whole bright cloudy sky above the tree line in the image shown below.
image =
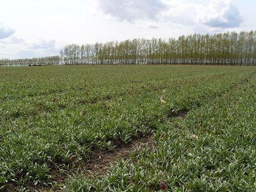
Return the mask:
<svg viewBox="0 0 256 192">
<path fill-rule="evenodd" d="M 256 0 L 0 0 L 0 59 L 66 44 L 256 30 Z"/>
</svg>

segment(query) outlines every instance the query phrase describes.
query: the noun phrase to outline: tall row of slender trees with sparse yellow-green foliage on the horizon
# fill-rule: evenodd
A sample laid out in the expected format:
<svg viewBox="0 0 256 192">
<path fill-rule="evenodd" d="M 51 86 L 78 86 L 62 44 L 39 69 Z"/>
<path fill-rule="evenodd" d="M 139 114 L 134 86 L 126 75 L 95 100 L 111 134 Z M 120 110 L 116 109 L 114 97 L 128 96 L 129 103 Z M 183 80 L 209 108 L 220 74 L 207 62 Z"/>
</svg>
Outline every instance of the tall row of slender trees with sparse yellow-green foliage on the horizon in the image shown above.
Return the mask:
<svg viewBox="0 0 256 192">
<path fill-rule="evenodd" d="M 256 31 L 69 44 L 55 59 L 44 65 L 256 65 Z"/>
</svg>

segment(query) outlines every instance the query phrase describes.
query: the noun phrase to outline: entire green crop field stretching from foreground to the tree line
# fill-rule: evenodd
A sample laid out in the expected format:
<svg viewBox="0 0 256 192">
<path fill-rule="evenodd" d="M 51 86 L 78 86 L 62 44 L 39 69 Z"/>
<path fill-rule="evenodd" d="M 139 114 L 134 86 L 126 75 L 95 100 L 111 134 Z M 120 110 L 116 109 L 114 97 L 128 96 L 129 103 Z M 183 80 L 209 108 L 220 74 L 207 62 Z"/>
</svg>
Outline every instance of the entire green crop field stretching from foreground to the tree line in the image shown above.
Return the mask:
<svg viewBox="0 0 256 192">
<path fill-rule="evenodd" d="M 254 191 L 254 66 L 0 68 L 0 191 Z M 92 152 L 153 146 L 84 174 Z M 64 182 L 58 177 L 65 175 Z"/>
</svg>

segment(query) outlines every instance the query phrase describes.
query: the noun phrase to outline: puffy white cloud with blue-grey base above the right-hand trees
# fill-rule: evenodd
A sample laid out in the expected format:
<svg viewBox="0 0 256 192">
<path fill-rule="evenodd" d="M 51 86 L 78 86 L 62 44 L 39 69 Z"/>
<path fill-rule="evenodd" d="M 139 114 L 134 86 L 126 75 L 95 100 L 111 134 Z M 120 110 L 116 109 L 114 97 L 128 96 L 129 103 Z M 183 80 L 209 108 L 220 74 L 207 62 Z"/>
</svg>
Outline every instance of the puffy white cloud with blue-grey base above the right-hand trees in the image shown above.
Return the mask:
<svg viewBox="0 0 256 192">
<path fill-rule="evenodd" d="M 230 0 L 213 0 L 200 13 L 203 24 L 209 27 L 239 27 L 243 22 L 240 11 Z"/>
</svg>

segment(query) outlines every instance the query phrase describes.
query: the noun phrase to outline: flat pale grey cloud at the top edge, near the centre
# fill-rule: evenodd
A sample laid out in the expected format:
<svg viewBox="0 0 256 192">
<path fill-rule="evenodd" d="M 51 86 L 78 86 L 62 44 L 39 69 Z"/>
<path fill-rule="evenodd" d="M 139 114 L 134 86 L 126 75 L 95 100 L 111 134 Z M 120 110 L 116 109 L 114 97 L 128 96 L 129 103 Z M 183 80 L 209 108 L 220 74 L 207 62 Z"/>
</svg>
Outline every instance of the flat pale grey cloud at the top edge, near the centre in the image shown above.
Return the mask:
<svg viewBox="0 0 256 192">
<path fill-rule="evenodd" d="M 157 20 L 158 15 L 168 9 L 161 0 L 99 0 L 99 7 L 104 13 L 130 23 L 137 20 Z"/>
</svg>

